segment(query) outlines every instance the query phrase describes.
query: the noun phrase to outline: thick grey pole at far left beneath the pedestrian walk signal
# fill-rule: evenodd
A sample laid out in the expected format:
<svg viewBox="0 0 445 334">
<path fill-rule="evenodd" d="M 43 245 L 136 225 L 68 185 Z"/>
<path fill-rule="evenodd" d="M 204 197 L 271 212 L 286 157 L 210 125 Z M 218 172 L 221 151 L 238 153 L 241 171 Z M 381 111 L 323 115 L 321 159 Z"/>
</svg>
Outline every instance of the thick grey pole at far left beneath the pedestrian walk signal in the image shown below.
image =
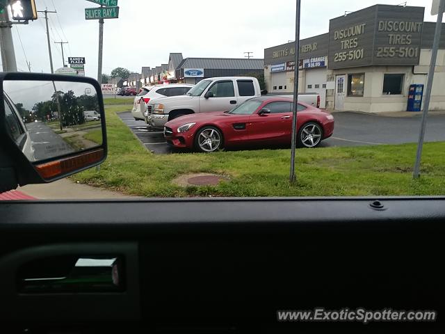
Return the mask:
<svg viewBox="0 0 445 334">
<path fill-rule="evenodd" d="M 0 14 L 1 63 L 3 64 L 3 72 L 17 72 L 11 28 L 13 28 L 13 24 L 10 22 L 8 10 L 5 8 L 3 13 Z"/>
</svg>

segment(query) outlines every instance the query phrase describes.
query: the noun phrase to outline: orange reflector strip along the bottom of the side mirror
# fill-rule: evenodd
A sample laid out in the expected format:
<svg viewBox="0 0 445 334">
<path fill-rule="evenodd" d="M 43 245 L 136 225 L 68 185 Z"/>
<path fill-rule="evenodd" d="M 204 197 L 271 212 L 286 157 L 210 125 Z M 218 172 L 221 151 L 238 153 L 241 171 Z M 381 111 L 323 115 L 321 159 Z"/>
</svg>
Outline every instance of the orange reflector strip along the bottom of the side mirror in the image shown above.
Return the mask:
<svg viewBox="0 0 445 334">
<path fill-rule="evenodd" d="M 85 152 L 74 157 L 68 157 L 56 161 L 47 162 L 46 164 L 36 165 L 38 173 L 46 180 L 56 176 L 67 174 L 73 170 L 78 170 L 95 164 L 104 157 L 104 150 L 95 150 Z"/>
</svg>

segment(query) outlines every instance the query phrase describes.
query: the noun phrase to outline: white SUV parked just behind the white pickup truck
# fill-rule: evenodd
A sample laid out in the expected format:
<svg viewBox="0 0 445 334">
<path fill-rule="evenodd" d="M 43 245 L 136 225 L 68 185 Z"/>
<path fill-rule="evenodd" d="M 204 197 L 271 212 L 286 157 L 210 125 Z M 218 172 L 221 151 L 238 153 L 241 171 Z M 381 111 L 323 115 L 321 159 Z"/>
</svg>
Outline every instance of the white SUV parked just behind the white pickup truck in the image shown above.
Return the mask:
<svg viewBox="0 0 445 334">
<path fill-rule="evenodd" d="M 160 97 L 179 96 L 186 94 L 194 85 L 190 84 L 164 84 L 150 87 L 143 87 L 143 90 L 136 95 L 131 115 L 135 120 L 147 120 L 146 116 L 140 111 L 140 100 L 145 103 L 152 102 Z"/>
</svg>

